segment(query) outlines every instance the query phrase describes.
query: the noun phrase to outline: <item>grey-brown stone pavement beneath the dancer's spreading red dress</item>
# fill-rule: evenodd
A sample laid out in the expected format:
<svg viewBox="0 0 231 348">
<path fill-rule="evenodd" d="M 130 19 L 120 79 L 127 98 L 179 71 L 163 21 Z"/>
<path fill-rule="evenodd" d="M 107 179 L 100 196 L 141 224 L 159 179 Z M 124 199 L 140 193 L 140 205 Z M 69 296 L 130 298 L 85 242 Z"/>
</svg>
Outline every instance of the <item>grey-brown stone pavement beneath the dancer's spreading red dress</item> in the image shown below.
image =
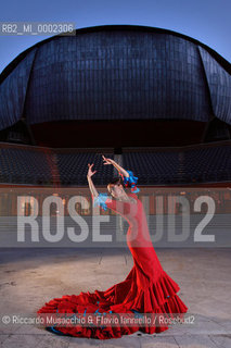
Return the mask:
<svg viewBox="0 0 231 348">
<path fill-rule="evenodd" d="M 231 347 L 230 249 L 156 249 L 164 270 L 180 286 L 178 295 L 195 316 L 155 335 L 99 340 L 61 337 L 35 325 L 0 323 L 0 347 L 74 348 Z M 125 279 L 132 266 L 126 249 L 1 249 L 1 316 L 36 313 L 46 301 L 80 291 L 104 290 Z"/>
</svg>

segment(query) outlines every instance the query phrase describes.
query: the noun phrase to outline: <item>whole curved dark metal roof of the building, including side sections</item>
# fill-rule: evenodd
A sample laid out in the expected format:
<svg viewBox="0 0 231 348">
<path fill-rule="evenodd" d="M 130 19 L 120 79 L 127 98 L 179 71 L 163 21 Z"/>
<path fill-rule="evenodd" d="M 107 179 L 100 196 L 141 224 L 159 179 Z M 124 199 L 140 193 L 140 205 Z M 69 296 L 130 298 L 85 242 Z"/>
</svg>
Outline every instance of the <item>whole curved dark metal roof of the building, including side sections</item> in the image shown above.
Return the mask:
<svg viewBox="0 0 231 348">
<path fill-rule="evenodd" d="M 0 129 L 60 120 L 195 120 L 231 124 L 230 63 L 171 30 L 98 26 L 54 36 L 0 76 Z"/>
</svg>

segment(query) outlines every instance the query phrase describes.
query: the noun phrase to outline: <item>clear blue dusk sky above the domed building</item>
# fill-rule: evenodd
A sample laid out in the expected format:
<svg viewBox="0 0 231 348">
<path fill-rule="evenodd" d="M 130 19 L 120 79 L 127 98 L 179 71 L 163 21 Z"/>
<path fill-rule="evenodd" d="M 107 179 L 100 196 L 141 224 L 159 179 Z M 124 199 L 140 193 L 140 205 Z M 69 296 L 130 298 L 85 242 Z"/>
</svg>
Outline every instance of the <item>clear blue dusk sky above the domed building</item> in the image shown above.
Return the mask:
<svg viewBox="0 0 231 348">
<path fill-rule="evenodd" d="M 75 28 L 147 25 L 175 30 L 209 46 L 231 62 L 230 0 L 11 0 L 1 3 L 2 22 L 74 22 Z M 50 35 L 53 36 L 53 35 Z M 21 52 L 50 36 L 0 36 L 0 72 Z"/>
</svg>

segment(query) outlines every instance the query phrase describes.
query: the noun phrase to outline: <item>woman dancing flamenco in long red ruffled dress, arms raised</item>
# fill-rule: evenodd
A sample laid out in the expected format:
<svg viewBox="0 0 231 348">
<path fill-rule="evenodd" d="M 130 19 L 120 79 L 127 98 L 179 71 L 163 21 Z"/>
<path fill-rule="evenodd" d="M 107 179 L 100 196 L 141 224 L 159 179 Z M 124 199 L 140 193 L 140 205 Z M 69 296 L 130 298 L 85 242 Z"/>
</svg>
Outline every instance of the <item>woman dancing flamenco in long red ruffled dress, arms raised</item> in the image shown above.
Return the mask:
<svg viewBox="0 0 231 348">
<path fill-rule="evenodd" d="M 107 185 L 107 194 L 99 194 L 92 182 L 97 171 L 93 164 L 88 164 L 88 183 L 94 206 L 101 209 L 111 209 L 128 223 L 127 245 L 132 254 L 133 266 L 124 282 L 113 285 L 104 291 L 80 293 L 79 295 L 65 295 L 54 298 L 40 308 L 37 313 L 154 313 L 156 315 L 182 314 L 188 307 L 177 293 L 180 287 L 164 271 L 152 245 L 146 216 L 142 202 L 137 194 L 138 177 L 131 171 L 126 171 L 114 160 L 103 156 L 103 164 L 114 165 L 118 170 L 118 177 Z M 130 187 L 130 192 L 126 191 Z M 57 335 L 68 335 L 88 338 L 119 338 L 137 331 L 147 334 L 161 333 L 168 328 L 162 325 L 106 325 L 70 327 L 47 326 L 48 331 Z"/>
</svg>

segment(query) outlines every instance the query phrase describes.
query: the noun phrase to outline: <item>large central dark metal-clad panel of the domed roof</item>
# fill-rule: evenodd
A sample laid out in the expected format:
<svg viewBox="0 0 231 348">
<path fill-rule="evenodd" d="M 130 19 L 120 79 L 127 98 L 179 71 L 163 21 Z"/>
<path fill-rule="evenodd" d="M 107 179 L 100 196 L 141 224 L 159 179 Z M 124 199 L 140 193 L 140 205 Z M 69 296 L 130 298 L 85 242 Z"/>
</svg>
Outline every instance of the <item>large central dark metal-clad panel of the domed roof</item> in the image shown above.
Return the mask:
<svg viewBox="0 0 231 348">
<path fill-rule="evenodd" d="M 206 122 L 210 115 L 196 46 L 168 34 L 102 30 L 47 42 L 36 55 L 28 97 L 29 123 L 86 119 Z"/>
</svg>

